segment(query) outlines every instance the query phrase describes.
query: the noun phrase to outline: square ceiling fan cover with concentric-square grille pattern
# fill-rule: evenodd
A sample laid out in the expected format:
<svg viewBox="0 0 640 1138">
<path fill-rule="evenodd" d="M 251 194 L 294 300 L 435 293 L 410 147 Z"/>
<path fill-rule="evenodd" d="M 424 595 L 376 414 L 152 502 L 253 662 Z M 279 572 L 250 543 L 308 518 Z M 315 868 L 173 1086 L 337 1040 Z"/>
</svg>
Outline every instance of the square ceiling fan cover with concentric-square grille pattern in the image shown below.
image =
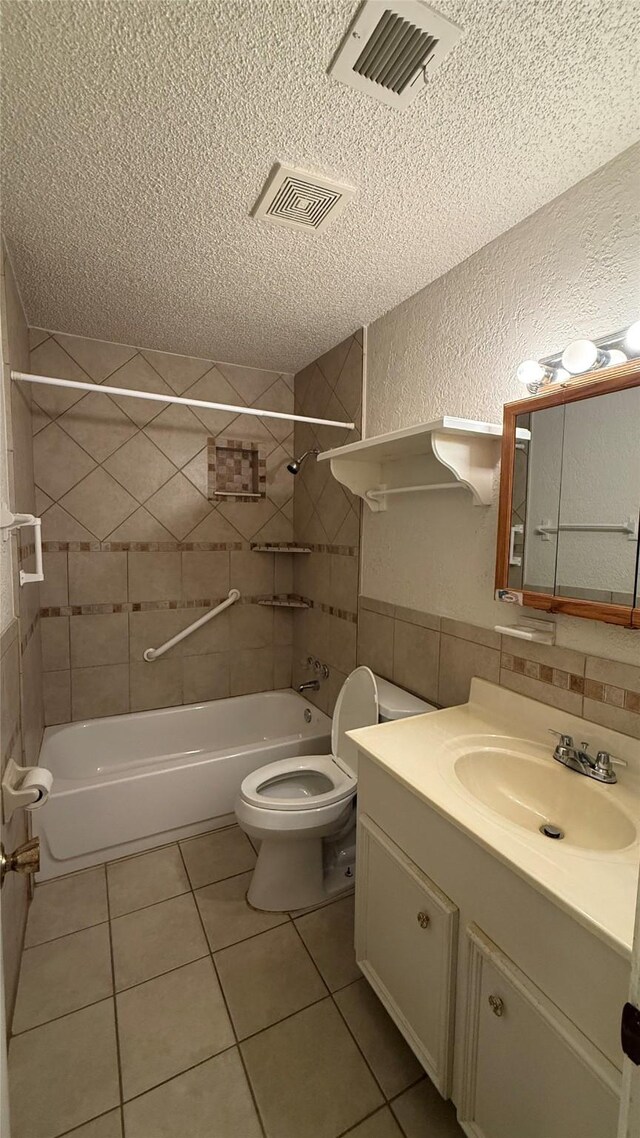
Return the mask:
<svg viewBox="0 0 640 1138">
<path fill-rule="evenodd" d="M 343 212 L 354 193 L 352 185 L 277 163 L 254 206 L 253 216 L 287 229 L 318 233 Z"/>
</svg>

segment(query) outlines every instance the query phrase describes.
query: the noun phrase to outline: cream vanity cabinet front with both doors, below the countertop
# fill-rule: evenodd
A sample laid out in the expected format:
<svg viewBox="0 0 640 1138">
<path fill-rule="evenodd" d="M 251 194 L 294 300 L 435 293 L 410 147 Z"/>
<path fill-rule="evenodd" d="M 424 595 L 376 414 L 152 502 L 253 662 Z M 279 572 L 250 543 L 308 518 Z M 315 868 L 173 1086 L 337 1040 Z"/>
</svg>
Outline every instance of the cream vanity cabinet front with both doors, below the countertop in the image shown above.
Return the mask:
<svg viewBox="0 0 640 1138">
<path fill-rule="evenodd" d="M 356 959 L 465 1133 L 615 1138 L 629 960 L 362 752 L 359 811 Z"/>
</svg>

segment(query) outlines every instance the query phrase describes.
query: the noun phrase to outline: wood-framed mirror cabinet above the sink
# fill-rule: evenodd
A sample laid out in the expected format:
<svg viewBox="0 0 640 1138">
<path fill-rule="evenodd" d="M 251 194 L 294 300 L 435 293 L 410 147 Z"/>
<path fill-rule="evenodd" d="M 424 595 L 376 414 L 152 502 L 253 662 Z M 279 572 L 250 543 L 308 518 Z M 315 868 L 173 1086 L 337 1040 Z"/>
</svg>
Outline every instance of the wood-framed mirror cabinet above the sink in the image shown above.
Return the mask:
<svg viewBox="0 0 640 1138">
<path fill-rule="evenodd" d="M 506 406 L 495 583 L 533 608 L 632 626 L 640 624 L 638 362 L 609 376 Z"/>
</svg>

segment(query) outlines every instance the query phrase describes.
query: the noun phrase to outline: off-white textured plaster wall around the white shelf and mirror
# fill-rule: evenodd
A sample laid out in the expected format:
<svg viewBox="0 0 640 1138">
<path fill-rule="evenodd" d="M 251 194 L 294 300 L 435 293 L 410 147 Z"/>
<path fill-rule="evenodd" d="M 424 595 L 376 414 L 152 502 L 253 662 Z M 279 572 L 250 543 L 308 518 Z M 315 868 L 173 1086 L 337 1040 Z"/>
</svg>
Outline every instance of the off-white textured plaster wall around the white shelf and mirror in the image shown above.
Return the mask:
<svg viewBox="0 0 640 1138">
<path fill-rule="evenodd" d="M 368 436 L 443 414 L 501 422 L 520 360 L 638 318 L 640 147 L 602 167 L 369 329 Z M 363 513 L 369 596 L 491 628 L 497 503 L 462 490 Z M 558 643 L 634 662 L 638 635 L 558 618 Z"/>
</svg>

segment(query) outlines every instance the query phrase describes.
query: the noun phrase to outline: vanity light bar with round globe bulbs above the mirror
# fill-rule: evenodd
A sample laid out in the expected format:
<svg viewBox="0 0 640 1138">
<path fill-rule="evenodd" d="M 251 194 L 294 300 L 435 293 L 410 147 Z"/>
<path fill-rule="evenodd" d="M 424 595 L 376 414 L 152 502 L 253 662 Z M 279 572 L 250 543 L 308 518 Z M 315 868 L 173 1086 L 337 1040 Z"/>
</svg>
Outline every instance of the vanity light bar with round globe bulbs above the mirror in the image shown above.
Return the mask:
<svg viewBox="0 0 640 1138">
<path fill-rule="evenodd" d="M 637 356 L 640 356 L 640 320 L 626 330 L 598 340 L 573 340 L 561 354 L 525 360 L 516 377 L 532 395 L 538 395 L 548 384 L 566 384 L 588 371 L 617 368 Z"/>
</svg>

